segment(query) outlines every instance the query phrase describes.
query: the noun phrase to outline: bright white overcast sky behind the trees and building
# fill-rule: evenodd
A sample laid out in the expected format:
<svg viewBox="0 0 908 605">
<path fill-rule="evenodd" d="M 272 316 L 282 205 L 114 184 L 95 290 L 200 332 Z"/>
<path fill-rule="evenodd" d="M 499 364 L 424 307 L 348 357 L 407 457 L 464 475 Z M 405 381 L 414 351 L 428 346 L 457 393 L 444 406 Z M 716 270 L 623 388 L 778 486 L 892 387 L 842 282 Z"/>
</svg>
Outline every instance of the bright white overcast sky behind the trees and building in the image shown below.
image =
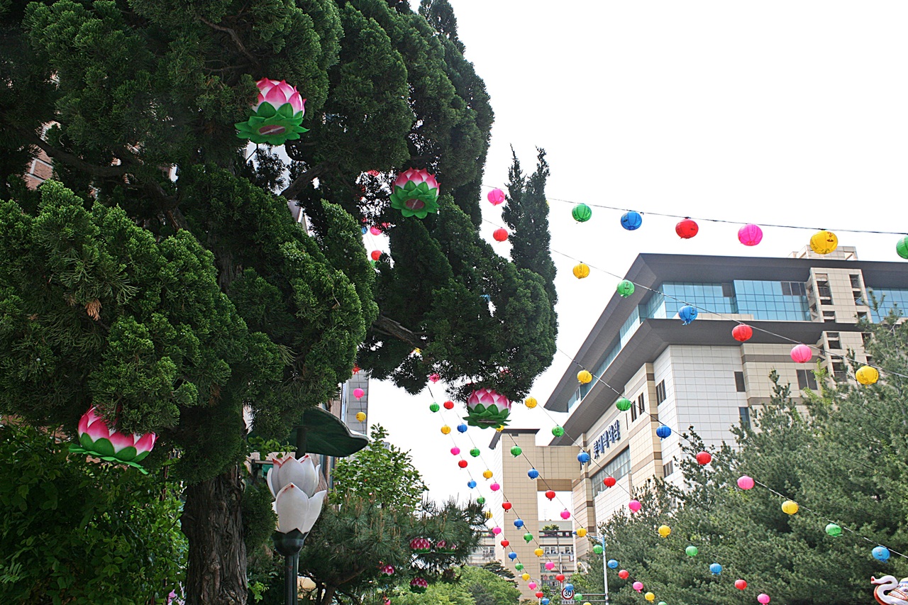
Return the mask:
<svg viewBox="0 0 908 605">
<path fill-rule="evenodd" d="M 676 220 L 647 211 L 908 231 L 908 3 L 449 1 L 496 114 L 485 183 L 506 182 L 510 145 L 527 170 L 545 148 L 553 250 L 623 275 L 638 253 L 785 256 L 813 233 L 765 228 L 747 248 L 737 225 L 701 222 L 684 241 Z M 636 209 L 644 223 L 627 232 L 620 213 L 594 208 L 578 224 L 556 199 Z M 483 211 L 500 223 L 499 208 L 483 201 Z M 901 261 L 896 236 L 838 234 L 864 260 Z M 617 280 L 594 271 L 579 281 L 573 261 L 554 259 L 558 347 L 574 354 Z M 542 427 L 540 444 L 552 424 L 541 404 L 568 362 L 558 354 L 539 377 L 536 410 L 512 415 L 511 426 Z M 412 451 L 431 497 L 465 498 L 469 478 L 431 401 L 373 382 L 369 421 Z M 493 435 L 468 434 L 480 447 Z M 469 450 L 464 436 L 457 444 Z"/>
</svg>

